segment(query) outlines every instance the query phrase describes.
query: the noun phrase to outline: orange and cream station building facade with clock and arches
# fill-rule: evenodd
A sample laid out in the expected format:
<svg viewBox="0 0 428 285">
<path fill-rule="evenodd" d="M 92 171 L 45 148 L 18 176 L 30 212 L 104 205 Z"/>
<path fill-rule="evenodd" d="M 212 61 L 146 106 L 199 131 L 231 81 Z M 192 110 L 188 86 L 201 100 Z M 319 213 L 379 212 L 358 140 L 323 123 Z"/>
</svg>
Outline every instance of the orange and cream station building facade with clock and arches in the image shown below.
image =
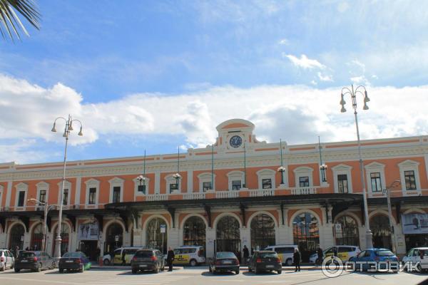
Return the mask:
<svg viewBox="0 0 428 285">
<path fill-rule="evenodd" d="M 200 244 L 212 257 L 215 250 L 242 252 L 244 245 L 297 244 L 304 260 L 318 246 L 364 249 L 357 142 L 267 143 L 254 128 L 233 119 L 218 125 L 215 144 L 206 148 L 68 162 L 62 201 L 61 163 L 0 164 L 0 248 L 41 248 L 44 207 L 29 201 L 37 199 L 52 205 L 49 253 L 61 202 L 61 252 L 81 249 L 93 258 L 97 248 L 104 254 L 120 246 L 165 251 Z M 404 254 L 427 245 L 428 136 L 363 140 L 362 157 L 374 246 L 394 243 Z M 401 185 L 389 190 L 393 239 L 384 189 L 395 180 Z"/>
</svg>

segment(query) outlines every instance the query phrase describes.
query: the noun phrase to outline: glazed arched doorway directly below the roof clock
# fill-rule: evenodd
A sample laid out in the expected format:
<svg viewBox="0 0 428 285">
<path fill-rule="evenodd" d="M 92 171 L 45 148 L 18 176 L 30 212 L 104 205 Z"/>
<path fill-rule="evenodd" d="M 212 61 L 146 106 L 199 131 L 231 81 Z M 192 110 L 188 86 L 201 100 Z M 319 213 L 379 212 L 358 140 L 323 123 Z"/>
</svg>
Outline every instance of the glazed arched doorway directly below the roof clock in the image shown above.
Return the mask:
<svg viewBox="0 0 428 285">
<path fill-rule="evenodd" d="M 215 252 L 234 252 L 240 258 L 240 232 L 238 219 L 222 217 L 217 223 Z"/>
</svg>

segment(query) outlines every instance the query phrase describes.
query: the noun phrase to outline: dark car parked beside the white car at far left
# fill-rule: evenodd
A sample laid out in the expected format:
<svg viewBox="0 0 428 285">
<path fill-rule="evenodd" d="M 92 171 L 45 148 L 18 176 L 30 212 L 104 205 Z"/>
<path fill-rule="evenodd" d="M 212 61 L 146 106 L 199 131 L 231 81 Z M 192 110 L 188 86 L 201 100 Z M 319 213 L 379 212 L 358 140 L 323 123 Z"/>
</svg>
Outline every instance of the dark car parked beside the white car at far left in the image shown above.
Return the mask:
<svg viewBox="0 0 428 285">
<path fill-rule="evenodd" d="M 55 260 L 46 252 L 40 251 L 21 251 L 15 260 L 15 272 L 21 269 L 30 269 L 40 272 L 42 269 L 54 269 Z"/>
</svg>

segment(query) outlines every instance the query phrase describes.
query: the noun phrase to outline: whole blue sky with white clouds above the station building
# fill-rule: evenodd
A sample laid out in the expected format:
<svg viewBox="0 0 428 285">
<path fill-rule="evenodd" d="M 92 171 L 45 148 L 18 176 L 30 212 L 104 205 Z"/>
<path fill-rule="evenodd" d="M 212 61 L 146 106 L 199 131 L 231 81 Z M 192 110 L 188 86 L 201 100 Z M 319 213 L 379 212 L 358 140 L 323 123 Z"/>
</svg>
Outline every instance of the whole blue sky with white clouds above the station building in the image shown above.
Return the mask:
<svg viewBox="0 0 428 285">
<path fill-rule="evenodd" d="M 424 110 L 407 117 L 428 103 L 427 1 L 37 3 L 41 30 L 0 45 L 0 162 L 61 160 L 46 132 L 68 113 L 87 134 L 73 160 L 203 147 L 229 118 L 268 141 L 352 140 L 351 82 L 377 107 L 363 138 L 427 134 Z"/>
</svg>

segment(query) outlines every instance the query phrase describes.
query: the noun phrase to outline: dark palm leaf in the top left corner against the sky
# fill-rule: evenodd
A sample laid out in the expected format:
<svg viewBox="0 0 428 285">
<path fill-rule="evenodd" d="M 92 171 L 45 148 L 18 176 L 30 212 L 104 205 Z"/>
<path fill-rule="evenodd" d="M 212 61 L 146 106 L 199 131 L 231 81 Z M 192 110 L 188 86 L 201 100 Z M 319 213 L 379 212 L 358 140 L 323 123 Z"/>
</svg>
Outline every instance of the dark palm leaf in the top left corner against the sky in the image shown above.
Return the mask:
<svg viewBox="0 0 428 285">
<path fill-rule="evenodd" d="M 14 41 L 16 36 L 16 38 L 21 39 L 21 31 L 29 36 L 15 11 L 21 14 L 34 28 L 40 29 L 40 13 L 33 0 L 0 0 L 0 33 L 3 38 L 9 37 Z"/>
</svg>

